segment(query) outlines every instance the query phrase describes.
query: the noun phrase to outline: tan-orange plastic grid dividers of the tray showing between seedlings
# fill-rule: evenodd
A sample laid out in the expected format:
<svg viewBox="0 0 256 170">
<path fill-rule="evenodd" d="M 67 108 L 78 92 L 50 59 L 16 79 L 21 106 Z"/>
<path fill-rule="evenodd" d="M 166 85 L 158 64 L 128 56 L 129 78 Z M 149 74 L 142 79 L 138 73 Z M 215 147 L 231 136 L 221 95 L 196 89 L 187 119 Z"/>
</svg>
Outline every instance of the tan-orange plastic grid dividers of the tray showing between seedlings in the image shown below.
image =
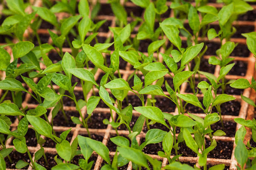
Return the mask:
<svg viewBox="0 0 256 170">
<path fill-rule="evenodd" d="M 106 4 L 107 0 L 100 0 L 99 2 L 101 4 Z M 123 1 L 121 1 L 121 2 L 123 2 Z M 92 3 L 96 3 L 96 0 L 93 0 Z M 194 5 L 194 3 L 192 3 L 192 4 Z M 35 6 L 41 6 L 42 5 L 42 1 L 36 0 L 34 2 L 34 5 Z M 167 2 L 167 5 L 170 6 L 170 2 Z M 217 4 L 217 3 L 209 3 L 208 5 L 215 6 L 216 8 L 221 8 L 222 7 L 222 4 Z M 131 2 L 126 2 L 125 6 L 130 7 L 130 8 L 134 8 L 135 7 L 135 5 L 133 3 L 131 3 Z M 256 10 L 256 5 L 252 5 L 252 7 L 254 8 L 254 10 Z M 143 18 L 143 13 L 144 12 L 142 12 L 142 15 L 141 15 L 142 18 Z M 0 14 L 1 14 L 1 12 L 0 12 Z M 59 20 L 62 19 L 64 16 L 68 16 L 68 15 L 66 15 L 65 13 L 57 14 L 57 17 L 58 17 Z M 171 10 L 169 17 L 173 17 L 173 16 L 174 16 L 174 12 L 173 12 L 173 10 Z M 106 19 L 108 21 L 111 21 L 111 27 L 115 27 L 116 26 L 116 17 L 114 15 L 113 16 L 111 16 L 111 15 L 99 15 L 99 16 L 96 17 L 96 19 L 97 20 L 104 20 L 104 19 Z M 165 18 L 161 18 L 161 20 L 164 20 L 164 19 Z M 128 20 L 128 22 L 131 22 L 133 20 L 133 18 L 127 17 L 127 20 Z M 188 21 L 185 21 L 185 23 L 188 23 Z M 214 22 L 211 25 L 217 25 L 217 22 Z M 238 25 L 238 26 L 244 26 L 244 25 L 245 26 L 254 26 L 254 31 L 256 30 L 256 21 L 236 21 L 236 22 L 233 23 L 233 25 Z M 137 32 L 139 26 L 136 26 L 134 28 L 135 32 Z M 26 33 L 28 33 L 28 32 L 31 32 L 31 30 L 27 30 Z M 46 29 L 39 29 L 38 33 L 49 36 L 49 33 L 48 33 L 48 31 Z M 108 38 L 109 36 L 111 36 L 113 38 L 113 35 L 110 32 L 110 30 L 108 30 L 108 32 L 99 32 L 97 37 Z M 136 36 L 136 34 L 134 34 L 134 33 L 131 34 L 131 37 L 135 37 L 135 36 Z M 164 38 L 167 39 L 166 36 L 164 36 Z M 182 38 L 183 41 L 186 40 L 185 37 L 181 37 L 181 38 Z M 219 38 L 214 38 L 211 41 L 208 41 L 207 38 L 199 38 L 199 40 L 204 41 L 204 42 L 211 42 L 211 43 L 212 42 L 221 43 Z M 13 39 L 13 41 L 17 42 L 17 40 L 15 40 L 15 39 Z M 230 41 L 233 41 L 233 42 L 239 43 L 239 44 L 246 44 L 245 38 L 231 38 Z M 51 43 L 51 42 L 52 42 L 52 40 L 49 37 L 48 43 Z M 167 44 L 168 44 L 168 41 L 166 42 L 166 45 Z M 0 45 L 2 45 L 2 44 L 0 44 Z M 12 56 L 11 49 L 7 48 L 6 50 Z M 63 52 L 71 52 L 71 49 L 63 48 Z M 112 52 L 113 51 L 111 51 L 111 53 Z M 160 49 L 160 52 L 162 52 L 162 53 L 164 52 L 164 49 L 162 47 Z M 147 55 L 146 52 L 144 52 L 144 54 Z M 103 56 L 105 57 L 106 55 L 103 54 Z M 157 53 L 154 53 L 154 57 L 156 57 L 156 56 L 157 56 Z M 210 56 L 213 56 L 213 55 L 204 55 L 204 58 L 208 59 Z M 233 56 L 231 56 L 231 57 L 233 57 Z M 238 79 L 238 78 L 242 78 L 243 77 L 243 78 L 248 79 L 250 81 L 251 77 L 254 74 L 255 58 L 253 57 L 253 54 L 250 53 L 250 55 L 248 55 L 248 56 L 246 56 L 246 55 L 245 56 L 234 56 L 234 58 L 235 58 L 235 61 L 242 61 L 242 62 L 246 62 L 247 63 L 247 72 L 245 73 L 245 76 L 227 75 L 226 78 L 227 79 Z M 160 55 L 159 55 L 159 59 L 160 59 L 160 61 L 163 61 L 163 58 Z M 45 66 L 42 65 L 42 64 L 40 66 L 41 66 L 41 68 L 45 68 Z M 186 69 L 188 69 L 188 68 L 186 68 Z M 220 67 L 216 66 L 215 70 L 214 70 L 214 75 L 215 76 L 218 76 L 219 70 L 220 70 Z M 98 79 L 100 73 L 103 73 L 103 71 L 98 70 L 97 73 L 95 74 L 95 79 L 96 80 Z M 131 65 L 129 63 L 126 64 L 125 70 L 120 70 L 120 74 L 122 74 L 122 78 L 125 79 L 125 80 L 127 80 L 128 77 L 130 76 L 130 74 L 132 74 L 132 73 L 133 73 L 133 70 L 132 70 L 132 67 L 131 67 Z M 141 74 L 141 73 L 138 73 L 138 74 Z M 4 74 L 2 75 L 2 77 L 4 78 Z M 196 74 L 196 77 L 198 77 L 197 74 Z M 204 76 L 202 76 L 202 75 L 200 77 L 204 78 Z M 165 76 L 165 78 L 170 78 L 170 76 L 167 75 L 167 76 Z M 37 81 L 37 79 L 35 79 L 35 82 L 36 81 Z M 23 85 L 25 85 L 25 84 L 23 83 Z M 182 84 L 181 90 L 180 90 L 181 93 L 186 94 L 185 90 L 186 90 L 187 87 L 189 87 L 188 83 Z M 58 89 L 57 86 L 54 86 L 54 88 Z M 29 91 L 32 92 L 31 90 L 29 90 Z M 82 92 L 82 88 L 81 87 L 76 87 L 75 91 Z M 94 91 L 97 93 L 98 92 L 97 88 L 94 87 Z M 110 90 L 108 90 L 108 91 L 110 92 Z M 0 90 L 0 96 L 1 96 L 2 93 L 3 93 L 3 91 Z M 166 91 L 164 93 L 168 94 Z M 246 90 L 244 90 L 243 95 L 246 96 L 246 97 L 250 97 L 250 96 L 252 96 L 252 94 L 254 94 L 252 92 L 251 95 L 250 95 L 250 93 L 251 93 L 251 90 L 250 89 L 246 89 Z M 89 98 L 92 94 L 93 94 L 93 90 L 91 90 L 89 92 L 87 98 Z M 134 95 L 134 94 L 129 92 L 128 95 Z M 202 97 L 202 94 L 197 94 L 197 96 L 198 97 Z M 250 108 L 251 108 L 251 106 L 248 107 L 248 104 L 241 100 L 241 96 L 240 95 L 233 95 L 233 96 L 237 98 L 236 101 L 241 102 L 241 109 L 239 111 L 239 115 L 238 116 L 222 115 L 222 118 L 223 118 L 224 121 L 233 121 L 233 119 L 236 118 L 236 117 L 246 118 L 246 116 L 247 116 L 247 109 L 249 108 L 249 110 L 250 110 Z M 151 96 L 148 95 L 147 97 L 151 97 Z M 25 101 L 22 103 L 23 107 L 24 106 L 28 106 L 29 109 L 32 109 L 32 108 L 35 108 L 37 106 L 35 104 L 29 103 L 30 98 L 31 98 L 31 96 L 29 94 L 26 94 Z M 52 109 L 53 108 L 51 108 L 50 112 L 49 112 L 49 116 L 48 116 L 49 120 L 51 120 L 51 117 L 52 117 L 52 115 L 51 115 Z M 75 106 L 64 106 L 64 110 L 65 111 L 76 111 L 76 108 L 75 108 Z M 86 106 L 83 107 L 81 111 L 82 111 L 82 115 L 85 116 L 86 115 Z M 97 113 L 99 112 L 101 114 L 105 114 L 105 113 L 106 114 L 110 114 L 109 109 L 106 109 L 106 108 L 96 108 L 94 112 L 97 112 Z M 169 112 L 169 113 L 174 114 L 174 115 L 178 114 L 177 108 L 175 108 L 174 112 Z M 248 113 L 249 113 L 249 111 L 248 111 Z M 196 114 L 196 115 L 198 115 L 198 116 L 200 116 L 202 118 L 205 117 L 205 114 L 200 114 L 200 113 L 193 113 L 193 114 Z M 136 112 L 135 110 L 133 110 L 133 115 L 134 116 L 139 116 L 140 114 L 138 112 Z M 114 113 L 114 119 L 115 118 L 116 118 L 116 114 Z M 111 121 L 111 118 L 110 118 L 110 121 Z M 15 122 L 11 124 L 12 130 L 17 128 L 17 124 L 18 124 L 18 119 L 16 118 Z M 144 127 L 145 127 L 145 123 L 144 123 Z M 239 129 L 239 127 L 241 127 L 241 126 L 239 124 L 237 124 L 236 125 L 236 130 Z M 65 130 L 68 130 L 69 128 L 70 127 L 54 126 L 54 130 L 56 132 L 63 132 Z M 110 135 L 111 134 L 116 134 L 115 130 L 112 129 L 111 125 L 108 125 L 106 129 L 91 129 L 91 128 L 89 128 L 89 131 L 91 132 L 91 134 L 100 134 L 100 135 L 102 135 L 103 136 L 102 142 L 105 145 L 108 143 Z M 129 134 L 129 132 L 125 131 L 125 130 L 119 130 L 118 132 L 119 132 L 120 135 L 128 135 Z M 72 135 L 72 139 L 71 139 L 71 142 L 72 142 L 77 135 L 79 135 L 79 134 L 80 135 L 85 135 L 85 134 L 87 134 L 87 131 L 86 131 L 85 128 L 81 127 L 78 124 L 78 125 L 76 125 L 76 127 L 72 127 L 72 130 L 71 130 L 70 133 L 73 134 Z M 250 132 L 249 131 L 248 131 L 247 134 L 248 134 L 248 138 L 250 138 Z M 176 134 L 176 136 L 177 135 L 178 134 Z M 43 137 L 43 138 L 45 138 L 45 137 Z M 140 135 L 137 136 L 137 140 L 138 140 L 139 143 L 141 142 L 142 138 L 145 138 L 145 133 L 143 131 L 142 131 L 142 133 Z M 247 140 L 248 140 L 248 138 L 247 138 Z M 234 147 L 235 147 L 234 137 L 214 137 L 214 139 L 216 139 L 216 141 L 220 140 L 220 141 L 232 141 L 233 142 L 233 151 L 232 151 L 232 154 L 231 154 L 231 159 L 207 158 L 207 162 L 209 164 L 211 164 L 211 165 L 224 163 L 225 165 L 229 166 L 231 170 L 236 169 L 235 165 L 237 165 L 237 162 L 236 162 L 236 160 L 234 158 Z M 7 147 L 14 147 L 14 146 L 12 146 L 12 138 L 10 138 L 7 141 Z M 29 150 L 31 151 L 31 153 L 35 153 L 39 149 L 40 149 L 39 144 L 37 144 L 36 147 L 29 146 Z M 50 147 L 45 147 L 45 152 L 46 153 L 51 153 L 51 154 L 57 154 L 56 150 L 54 148 L 50 148 Z M 109 154 L 111 156 L 113 156 L 114 153 L 115 152 L 110 152 Z M 95 154 L 96 153 L 94 153 L 94 155 Z M 168 164 L 168 161 L 167 161 L 166 158 L 161 158 L 158 155 L 150 155 L 150 156 L 152 156 L 153 158 L 157 158 L 157 159 L 161 160 L 163 166 Z M 33 159 L 34 159 L 34 154 L 33 154 Z M 198 160 L 198 157 L 190 157 L 190 156 L 181 156 L 180 157 L 180 161 L 182 161 L 182 162 L 194 162 L 195 163 L 195 162 L 197 162 L 197 160 Z M 100 169 L 102 161 L 103 161 L 102 158 L 100 158 L 100 156 L 98 156 L 96 164 L 94 166 L 94 170 Z M 196 163 L 196 165 L 197 165 L 197 167 L 199 167 L 199 165 L 197 163 Z M 28 169 L 31 169 L 31 167 L 29 167 Z M 131 162 L 129 163 L 127 169 L 128 170 L 132 169 Z"/>
</svg>

